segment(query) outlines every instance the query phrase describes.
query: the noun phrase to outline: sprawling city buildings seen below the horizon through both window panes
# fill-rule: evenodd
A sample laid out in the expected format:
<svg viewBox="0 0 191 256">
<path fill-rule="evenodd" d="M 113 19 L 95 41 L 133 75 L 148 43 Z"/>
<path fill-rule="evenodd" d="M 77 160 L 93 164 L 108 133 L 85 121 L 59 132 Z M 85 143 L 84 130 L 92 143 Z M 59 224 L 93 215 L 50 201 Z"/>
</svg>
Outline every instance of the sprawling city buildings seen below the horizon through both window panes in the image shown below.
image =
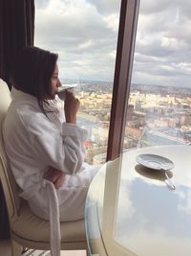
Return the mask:
<svg viewBox="0 0 191 256">
<path fill-rule="evenodd" d="M 66 83 L 74 81 L 65 81 Z M 106 161 L 112 104 L 111 82 L 78 81 L 78 126 L 88 130 L 86 161 Z M 127 99 L 128 100 L 128 99 Z M 191 89 L 132 84 L 128 101 L 123 150 L 159 145 L 191 144 Z"/>
</svg>

